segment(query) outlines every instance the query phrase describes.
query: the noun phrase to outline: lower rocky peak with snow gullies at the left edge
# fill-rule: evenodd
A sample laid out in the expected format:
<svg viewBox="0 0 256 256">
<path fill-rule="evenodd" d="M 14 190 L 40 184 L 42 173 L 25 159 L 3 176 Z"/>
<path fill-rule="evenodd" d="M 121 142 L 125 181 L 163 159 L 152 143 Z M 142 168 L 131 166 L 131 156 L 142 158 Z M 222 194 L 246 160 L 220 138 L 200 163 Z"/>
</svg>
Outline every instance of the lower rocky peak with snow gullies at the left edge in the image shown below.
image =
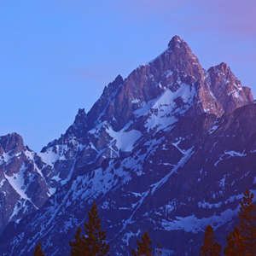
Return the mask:
<svg viewBox="0 0 256 256">
<path fill-rule="evenodd" d="M 0 232 L 10 221 L 19 222 L 42 207 L 49 198 L 49 187 L 34 156 L 20 135 L 0 137 Z"/>
</svg>

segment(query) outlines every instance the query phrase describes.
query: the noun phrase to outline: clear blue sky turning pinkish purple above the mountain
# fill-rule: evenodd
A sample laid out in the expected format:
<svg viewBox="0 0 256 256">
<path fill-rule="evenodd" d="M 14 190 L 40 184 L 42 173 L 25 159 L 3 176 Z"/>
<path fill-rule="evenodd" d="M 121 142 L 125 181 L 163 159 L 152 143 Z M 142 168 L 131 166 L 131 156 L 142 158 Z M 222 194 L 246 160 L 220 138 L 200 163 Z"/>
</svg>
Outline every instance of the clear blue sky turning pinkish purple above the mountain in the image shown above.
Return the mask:
<svg viewBox="0 0 256 256">
<path fill-rule="evenodd" d="M 39 152 L 174 35 L 255 97 L 255 13 L 256 0 L 0 0 L 0 136 Z"/>
</svg>

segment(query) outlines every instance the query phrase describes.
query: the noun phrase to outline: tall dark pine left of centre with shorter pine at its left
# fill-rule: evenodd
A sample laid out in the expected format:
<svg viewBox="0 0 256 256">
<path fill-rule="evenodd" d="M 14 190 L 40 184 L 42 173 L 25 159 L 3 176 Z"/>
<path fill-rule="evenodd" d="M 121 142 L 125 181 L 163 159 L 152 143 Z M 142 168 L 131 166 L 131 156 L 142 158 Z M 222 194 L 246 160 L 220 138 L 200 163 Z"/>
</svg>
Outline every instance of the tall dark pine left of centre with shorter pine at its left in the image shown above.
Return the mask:
<svg viewBox="0 0 256 256">
<path fill-rule="evenodd" d="M 72 256 L 103 256 L 109 252 L 105 231 L 101 230 L 101 219 L 98 216 L 96 203 L 93 202 L 88 212 L 89 223 L 84 223 L 85 236 L 77 230 L 75 241 L 70 242 Z M 109 254 L 108 254 L 109 255 Z"/>
</svg>

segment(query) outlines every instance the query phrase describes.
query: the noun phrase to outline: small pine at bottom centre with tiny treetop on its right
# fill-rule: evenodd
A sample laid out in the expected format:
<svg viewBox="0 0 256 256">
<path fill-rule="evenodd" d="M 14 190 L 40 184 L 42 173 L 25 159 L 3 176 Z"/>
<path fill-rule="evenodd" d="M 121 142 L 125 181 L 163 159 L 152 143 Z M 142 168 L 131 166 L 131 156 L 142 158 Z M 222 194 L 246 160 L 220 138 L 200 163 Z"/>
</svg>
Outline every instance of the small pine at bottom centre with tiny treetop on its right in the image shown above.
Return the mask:
<svg viewBox="0 0 256 256">
<path fill-rule="evenodd" d="M 146 230 L 143 236 L 141 236 L 142 241 L 137 240 L 137 253 L 134 249 L 131 248 L 131 254 L 134 256 L 154 256 L 152 254 L 152 241 L 149 238 L 148 231 Z M 157 255 L 160 255 L 162 252 L 160 250 L 160 245 L 158 243 L 158 250 L 157 250 Z"/>
</svg>

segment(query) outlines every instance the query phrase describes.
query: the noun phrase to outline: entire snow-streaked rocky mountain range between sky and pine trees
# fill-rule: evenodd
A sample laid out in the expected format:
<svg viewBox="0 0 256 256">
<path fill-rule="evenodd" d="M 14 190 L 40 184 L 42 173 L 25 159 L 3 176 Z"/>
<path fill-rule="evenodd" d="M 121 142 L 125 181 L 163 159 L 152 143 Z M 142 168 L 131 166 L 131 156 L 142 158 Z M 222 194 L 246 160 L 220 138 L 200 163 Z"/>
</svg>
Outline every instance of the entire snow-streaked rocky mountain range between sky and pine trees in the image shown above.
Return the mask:
<svg viewBox="0 0 256 256">
<path fill-rule="evenodd" d="M 175 36 L 41 153 L 0 137 L 0 252 L 28 255 L 41 241 L 47 255 L 67 254 L 95 200 L 113 255 L 144 230 L 168 255 L 195 255 L 207 224 L 227 234 L 255 188 L 255 120 L 230 67 L 204 70 Z"/>
</svg>

